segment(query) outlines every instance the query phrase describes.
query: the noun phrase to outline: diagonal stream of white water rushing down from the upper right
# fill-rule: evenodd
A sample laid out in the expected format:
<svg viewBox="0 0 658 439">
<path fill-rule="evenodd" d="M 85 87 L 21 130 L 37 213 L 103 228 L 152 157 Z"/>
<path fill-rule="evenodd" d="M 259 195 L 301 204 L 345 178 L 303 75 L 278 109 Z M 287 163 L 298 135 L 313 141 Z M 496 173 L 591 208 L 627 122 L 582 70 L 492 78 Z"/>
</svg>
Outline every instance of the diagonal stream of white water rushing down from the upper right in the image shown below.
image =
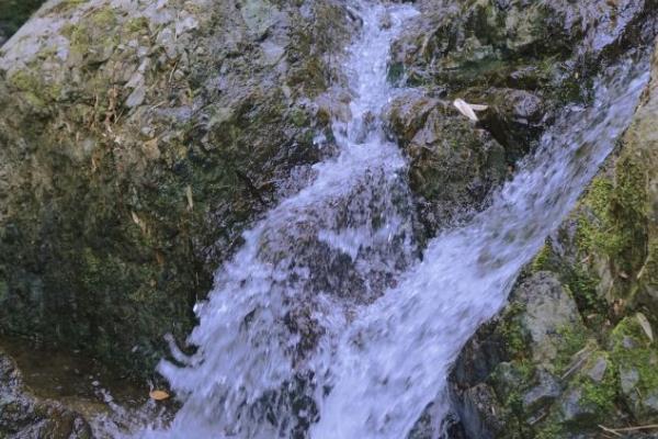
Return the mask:
<svg viewBox="0 0 658 439">
<path fill-rule="evenodd" d="M 405 438 L 434 399 L 435 417 L 445 416 L 451 364 L 612 150 L 647 69 L 632 61 L 611 68 L 593 103 L 565 111 L 489 209 L 435 238 L 398 286 L 362 309 L 327 360 L 331 392 L 314 439 Z"/>
</svg>

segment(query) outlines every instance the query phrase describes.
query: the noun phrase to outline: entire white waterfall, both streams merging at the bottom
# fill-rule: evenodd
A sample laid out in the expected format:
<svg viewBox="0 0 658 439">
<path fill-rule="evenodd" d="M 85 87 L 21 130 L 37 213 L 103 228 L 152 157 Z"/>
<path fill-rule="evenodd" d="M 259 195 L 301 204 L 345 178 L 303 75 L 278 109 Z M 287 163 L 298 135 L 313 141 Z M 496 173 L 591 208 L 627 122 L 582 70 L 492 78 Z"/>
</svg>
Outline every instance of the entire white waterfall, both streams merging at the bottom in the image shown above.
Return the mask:
<svg viewBox="0 0 658 439">
<path fill-rule="evenodd" d="M 381 122 L 396 92 L 388 50 L 417 11 L 354 3 L 363 30 L 345 58 L 352 116 L 333 124 L 339 154 L 217 271 L 189 339 L 197 351 L 172 346 L 177 364 L 159 367 L 182 408 L 140 437 L 400 439 L 434 401 L 441 419 L 451 363 L 572 207 L 648 79 L 631 61 L 603 75 L 490 207 L 420 258 L 407 165 Z"/>
</svg>

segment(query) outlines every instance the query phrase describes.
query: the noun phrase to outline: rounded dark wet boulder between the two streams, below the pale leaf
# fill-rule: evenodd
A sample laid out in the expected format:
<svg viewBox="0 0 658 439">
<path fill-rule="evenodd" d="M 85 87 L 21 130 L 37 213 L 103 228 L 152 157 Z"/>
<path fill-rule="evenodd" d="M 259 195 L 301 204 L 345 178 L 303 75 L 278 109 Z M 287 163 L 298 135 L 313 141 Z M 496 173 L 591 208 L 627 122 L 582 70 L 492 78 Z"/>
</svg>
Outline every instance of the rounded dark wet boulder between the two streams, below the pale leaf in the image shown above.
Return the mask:
<svg viewBox="0 0 658 439">
<path fill-rule="evenodd" d="M 390 104 L 388 119 L 410 160 L 409 184 L 427 235 L 481 209 L 504 179 L 503 147 L 446 102 L 408 93 Z"/>
</svg>

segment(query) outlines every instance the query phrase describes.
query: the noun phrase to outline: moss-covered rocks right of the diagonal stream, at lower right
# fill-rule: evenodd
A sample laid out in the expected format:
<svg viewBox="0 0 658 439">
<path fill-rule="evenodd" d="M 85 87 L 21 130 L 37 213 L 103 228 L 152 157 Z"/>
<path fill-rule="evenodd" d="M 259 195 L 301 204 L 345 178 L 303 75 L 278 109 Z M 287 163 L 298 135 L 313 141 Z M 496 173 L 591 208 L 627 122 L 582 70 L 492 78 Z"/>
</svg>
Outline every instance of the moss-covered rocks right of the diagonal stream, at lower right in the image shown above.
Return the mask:
<svg viewBox="0 0 658 439">
<path fill-rule="evenodd" d="M 599 425 L 658 420 L 656 59 L 620 151 L 455 364 L 467 437 L 597 438 Z"/>
</svg>

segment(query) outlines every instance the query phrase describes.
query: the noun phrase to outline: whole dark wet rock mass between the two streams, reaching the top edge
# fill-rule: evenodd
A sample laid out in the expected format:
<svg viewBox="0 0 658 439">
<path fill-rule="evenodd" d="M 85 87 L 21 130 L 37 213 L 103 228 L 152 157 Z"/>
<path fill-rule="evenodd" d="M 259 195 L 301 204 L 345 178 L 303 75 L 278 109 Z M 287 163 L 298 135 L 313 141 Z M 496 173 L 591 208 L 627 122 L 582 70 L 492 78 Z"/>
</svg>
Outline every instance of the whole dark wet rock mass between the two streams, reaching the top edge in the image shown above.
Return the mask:
<svg viewBox="0 0 658 439">
<path fill-rule="evenodd" d="M 421 91 L 398 98 L 389 120 L 410 157 L 429 236 L 481 210 L 554 111 L 587 101 L 601 66 L 655 35 L 654 1 L 424 0 L 419 8 L 394 47 L 389 77 Z M 470 123 L 451 105 L 456 98 L 488 109 Z"/>
</svg>

